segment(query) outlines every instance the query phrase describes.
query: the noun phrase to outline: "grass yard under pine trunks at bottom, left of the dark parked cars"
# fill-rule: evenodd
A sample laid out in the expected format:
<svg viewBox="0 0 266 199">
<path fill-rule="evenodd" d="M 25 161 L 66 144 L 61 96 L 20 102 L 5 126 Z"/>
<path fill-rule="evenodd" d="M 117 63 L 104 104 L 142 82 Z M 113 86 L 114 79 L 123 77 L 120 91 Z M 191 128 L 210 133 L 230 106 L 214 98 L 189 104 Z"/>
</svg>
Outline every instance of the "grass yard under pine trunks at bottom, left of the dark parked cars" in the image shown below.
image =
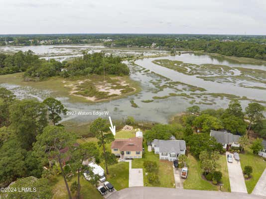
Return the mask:
<svg viewBox="0 0 266 199">
<path fill-rule="evenodd" d="M 74 181 L 77 181 L 77 176 L 73 177 L 69 182 L 69 187 L 71 186 L 71 183 Z M 92 184 L 90 184 L 88 181 L 86 181 L 83 177 L 80 178 L 80 184 L 81 184 L 81 199 L 103 199 L 103 197 L 100 195 L 96 187 L 94 187 Z M 68 199 L 66 186 L 64 183 L 63 177 L 60 175 L 56 178 L 55 184 L 53 187 L 53 198 L 52 199 Z M 72 195 L 74 198 L 74 195 Z"/>
</svg>

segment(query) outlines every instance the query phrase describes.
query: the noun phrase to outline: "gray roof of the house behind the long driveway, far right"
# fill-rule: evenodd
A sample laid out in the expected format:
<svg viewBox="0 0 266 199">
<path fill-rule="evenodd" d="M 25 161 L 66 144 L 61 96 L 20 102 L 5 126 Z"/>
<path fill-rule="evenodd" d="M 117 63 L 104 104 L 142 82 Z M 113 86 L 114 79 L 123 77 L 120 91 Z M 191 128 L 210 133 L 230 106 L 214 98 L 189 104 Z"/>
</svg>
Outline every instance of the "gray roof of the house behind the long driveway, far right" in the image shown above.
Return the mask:
<svg viewBox="0 0 266 199">
<path fill-rule="evenodd" d="M 240 135 L 234 135 L 228 133 L 227 131 L 216 131 L 211 130 L 210 136 L 215 137 L 217 142 L 221 144 L 232 144 L 233 142 L 238 142 Z"/>
</svg>

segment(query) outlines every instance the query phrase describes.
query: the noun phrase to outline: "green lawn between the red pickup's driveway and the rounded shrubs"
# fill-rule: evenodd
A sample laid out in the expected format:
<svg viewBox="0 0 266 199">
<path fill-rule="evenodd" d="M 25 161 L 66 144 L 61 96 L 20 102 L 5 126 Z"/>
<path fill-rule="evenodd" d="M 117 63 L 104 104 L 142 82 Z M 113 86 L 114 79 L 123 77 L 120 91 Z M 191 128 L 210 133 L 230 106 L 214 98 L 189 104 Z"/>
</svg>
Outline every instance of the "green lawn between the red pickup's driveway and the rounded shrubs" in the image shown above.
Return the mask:
<svg viewBox="0 0 266 199">
<path fill-rule="evenodd" d="M 202 179 L 201 175 L 203 170 L 200 167 L 200 162 L 197 161 L 191 154 L 188 155 L 187 166 L 188 177 L 184 182 L 184 189 L 217 191 L 217 187 L 215 185 Z"/>
</svg>

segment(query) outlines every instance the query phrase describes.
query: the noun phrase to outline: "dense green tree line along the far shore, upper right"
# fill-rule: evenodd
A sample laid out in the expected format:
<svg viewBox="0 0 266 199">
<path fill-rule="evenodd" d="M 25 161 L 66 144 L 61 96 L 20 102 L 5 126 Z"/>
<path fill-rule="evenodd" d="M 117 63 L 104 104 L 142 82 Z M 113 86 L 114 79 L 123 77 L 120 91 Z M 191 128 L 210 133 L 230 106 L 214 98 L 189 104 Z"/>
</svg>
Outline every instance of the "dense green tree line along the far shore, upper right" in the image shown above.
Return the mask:
<svg viewBox="0 0 266 199">
<path fill-rule="evenodd" d="M 208 39 L 194 39 L 194 40 L 176 40 L 173 38 L 156 38 L 150 39 L 148 37 L 136 37 L 134 39 L 119 39 L 115 41 L 105 42 L 106 46 L 116 44 L 116 46 L 151 46 L 156 43 L 156 46 L 197 50 L 209 53 L 218 53 L 225 56 L 248 57 L 255 59 L 266 60 L 266 42 L 256 43 L 253 41 L 219 41 Z"/>
</svg>

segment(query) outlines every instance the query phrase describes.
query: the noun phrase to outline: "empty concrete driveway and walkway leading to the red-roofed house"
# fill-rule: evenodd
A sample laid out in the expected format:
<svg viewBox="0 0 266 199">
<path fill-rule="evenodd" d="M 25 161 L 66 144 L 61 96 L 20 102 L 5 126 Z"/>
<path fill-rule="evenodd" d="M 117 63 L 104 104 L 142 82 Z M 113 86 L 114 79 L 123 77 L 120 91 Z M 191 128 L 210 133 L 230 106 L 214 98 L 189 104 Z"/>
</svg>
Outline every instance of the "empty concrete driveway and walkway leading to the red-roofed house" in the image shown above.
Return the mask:
<svg viewBox="0 0 266 199">
<path fill-rule="evenodd" d="M 129 162 L 129 187 L 143 187 L 143 170 L 132 169 L 132 160 L 126 160 Z"/>
</svg>

